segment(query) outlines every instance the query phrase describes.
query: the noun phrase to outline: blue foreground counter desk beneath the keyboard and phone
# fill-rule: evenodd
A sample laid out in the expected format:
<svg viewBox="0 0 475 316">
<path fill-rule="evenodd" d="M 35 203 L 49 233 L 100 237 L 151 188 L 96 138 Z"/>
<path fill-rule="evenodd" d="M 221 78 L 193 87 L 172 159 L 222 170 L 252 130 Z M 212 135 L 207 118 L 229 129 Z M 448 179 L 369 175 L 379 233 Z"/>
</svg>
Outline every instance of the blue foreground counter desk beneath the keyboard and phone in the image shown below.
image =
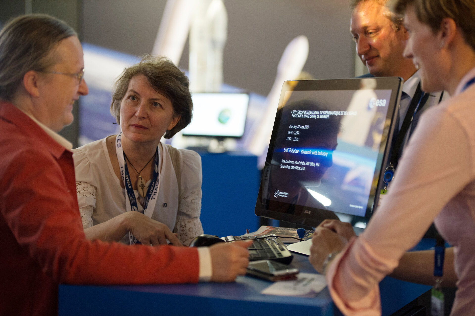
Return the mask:
<svg viewBox="0 0 475 316">
<path fill-rule="evenodd" d="M 292 262 L 303 272 L 314 272 L 303 255 Z M 332 316 L 328 288 L 316 297 L 262 295 L 271 282 L 238 277 L 234 283 L 141 286 L 59 286 L 59 316 L 186 315 L 186 316 Z M 430 287 L 385 278 L 380 283 L 383 315 L 390 316 L 426 293 Z M 297 314 L 298 313 L 298 314 Z"/>
</svg>

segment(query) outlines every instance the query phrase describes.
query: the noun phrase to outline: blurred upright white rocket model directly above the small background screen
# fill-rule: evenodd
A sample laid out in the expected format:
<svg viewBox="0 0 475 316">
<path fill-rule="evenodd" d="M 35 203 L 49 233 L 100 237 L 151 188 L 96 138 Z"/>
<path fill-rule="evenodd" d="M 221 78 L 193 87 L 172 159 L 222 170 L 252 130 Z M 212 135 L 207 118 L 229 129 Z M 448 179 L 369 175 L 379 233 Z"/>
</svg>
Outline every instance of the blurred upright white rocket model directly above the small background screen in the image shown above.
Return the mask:
<svg viewBox="0 0 475 316">
<path fill-rule="evenodd" d="M 190 90 L 219 92 L 228 14 L 222 0 L 195 0 L 190 28 Z"/>
</svg>

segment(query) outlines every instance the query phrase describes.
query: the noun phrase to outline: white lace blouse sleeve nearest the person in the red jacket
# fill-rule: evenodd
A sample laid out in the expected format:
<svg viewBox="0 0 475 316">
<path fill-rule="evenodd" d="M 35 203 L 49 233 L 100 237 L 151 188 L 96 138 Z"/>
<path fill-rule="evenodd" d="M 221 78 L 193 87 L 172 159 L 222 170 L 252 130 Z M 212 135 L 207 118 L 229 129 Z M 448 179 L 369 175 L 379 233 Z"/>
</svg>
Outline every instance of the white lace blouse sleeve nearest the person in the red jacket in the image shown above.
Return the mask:
<svg viewBox="0 0 475 316">
<path fill-rule="evenodd" d="M 95 208 L 97 188 L 92 184 L 95 181 L 93 180 L 91 163 L 85 152 L 82 149 L 73 149 L 73 160 L 76 174 L 77 204 L 79 205 L 83 228 L 86 229 L 93 226 L 92 214 Z"/>
</svg>

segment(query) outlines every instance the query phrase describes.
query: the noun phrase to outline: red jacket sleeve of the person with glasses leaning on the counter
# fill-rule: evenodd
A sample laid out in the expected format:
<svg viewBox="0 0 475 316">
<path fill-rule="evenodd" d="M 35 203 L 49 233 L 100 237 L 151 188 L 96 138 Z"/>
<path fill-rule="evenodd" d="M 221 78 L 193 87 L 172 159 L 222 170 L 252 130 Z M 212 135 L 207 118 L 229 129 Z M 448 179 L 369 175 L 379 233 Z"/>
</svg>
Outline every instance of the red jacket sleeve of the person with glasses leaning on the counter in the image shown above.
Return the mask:
<svg viewBox="0 0 475 316">
<path fill-rule="evenodd" d="M 42 150 L 15 156 L 2 171 L 0 210 L 20 247 L 56 282 L 198 282 L 196 249 L 87 241 L 61 162 Z"/>
</svg>

